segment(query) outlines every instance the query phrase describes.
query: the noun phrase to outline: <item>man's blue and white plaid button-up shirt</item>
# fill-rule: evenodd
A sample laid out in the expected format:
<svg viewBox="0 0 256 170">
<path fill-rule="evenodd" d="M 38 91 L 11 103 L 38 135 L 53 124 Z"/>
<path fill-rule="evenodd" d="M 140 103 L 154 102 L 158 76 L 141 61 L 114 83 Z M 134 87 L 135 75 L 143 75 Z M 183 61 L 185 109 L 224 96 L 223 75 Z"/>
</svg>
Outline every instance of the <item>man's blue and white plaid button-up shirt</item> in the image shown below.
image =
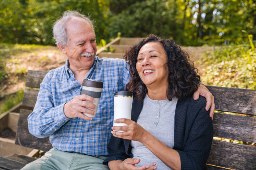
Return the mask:
<svg viewBox="0 0 256 170">
<path fill-rule="evenodd" d="M 66 64 L 50 70 L 40 86 L 36 105 L 28 116 L 29 132 L 45 138 L 50 135 L 53 147 L 87 155 L 108 155 L 114 113 L 114 93 L 124 90 L 130 80 L 129 67 L 123 59 L 95 56 L 87 77 L 103 82 L 96 116 L 91 121 L 67 118 L 64 104 L 81 94 L 82 85 Z"/>
</svg>

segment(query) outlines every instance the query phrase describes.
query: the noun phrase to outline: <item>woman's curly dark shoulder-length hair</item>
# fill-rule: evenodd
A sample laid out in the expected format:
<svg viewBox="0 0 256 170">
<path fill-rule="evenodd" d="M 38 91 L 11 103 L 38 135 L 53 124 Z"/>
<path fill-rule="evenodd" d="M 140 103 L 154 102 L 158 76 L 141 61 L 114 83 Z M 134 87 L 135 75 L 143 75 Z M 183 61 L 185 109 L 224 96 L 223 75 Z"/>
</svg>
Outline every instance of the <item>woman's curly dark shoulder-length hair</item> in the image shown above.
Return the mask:
<svg viewBox="0 0 256 170">
<path fill-rule="evenodd" d="M 193 62 L 189 60 L 188 53 L 181 50 L 179 45 L 176 45 L 173 40 L 162 39 L 156 35 L 148 35 L 148 37 L 141 40 L 141 42 L 131 47 L 125 53 L 124 58 L 130 66 L 129 72 L 131 75 L 131 80 L 127 83 L 125 89 L 133 91 L 138 102 L 143 102 L 148 90 L 138 75 L 136 63 L 139 50 L 148 42 L 161 43 L 166 52 L 166 64 L 168 65 L 169 71 L 169 86 L 166 91 L 168 100 L 172 100 L 172 97 L 182 98 L 191 96 L 200 84 L 200 76 L 197 75 L 197 68 L 195 68 Z"/>
</svg>

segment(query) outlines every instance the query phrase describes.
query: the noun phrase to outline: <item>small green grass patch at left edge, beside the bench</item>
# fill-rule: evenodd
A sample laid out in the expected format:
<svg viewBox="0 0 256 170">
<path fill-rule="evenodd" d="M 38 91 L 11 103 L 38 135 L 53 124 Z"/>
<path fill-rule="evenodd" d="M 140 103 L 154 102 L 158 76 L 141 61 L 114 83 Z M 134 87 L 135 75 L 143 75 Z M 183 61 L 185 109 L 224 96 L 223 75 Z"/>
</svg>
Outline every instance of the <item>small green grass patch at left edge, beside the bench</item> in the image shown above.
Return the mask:
<svg viewBox="0 0 256 170">
<path fill-rule="evenodd" d="M 23 90 L 19 90 L 14 95 L 8 95 L 4 98 L 4 102 L 0 105 L 0 114 L 9 110 L 13 106 L 17 105 L 22 101 L 23 98 Z"/>
</svg>

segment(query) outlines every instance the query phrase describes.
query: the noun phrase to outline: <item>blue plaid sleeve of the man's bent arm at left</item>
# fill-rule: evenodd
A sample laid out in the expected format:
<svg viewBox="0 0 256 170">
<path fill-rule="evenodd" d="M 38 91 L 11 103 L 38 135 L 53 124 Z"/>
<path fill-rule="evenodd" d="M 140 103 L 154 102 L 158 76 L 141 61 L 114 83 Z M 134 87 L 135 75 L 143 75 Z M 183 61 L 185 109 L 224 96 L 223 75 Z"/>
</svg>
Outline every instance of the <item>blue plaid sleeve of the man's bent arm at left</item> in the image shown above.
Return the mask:
<svg viewBox="0 0 256 170">
<path fill-rule="evenodd" d="M 37 138 L 45 138 L 58 130 L 70 120 L 64 115 L 64 104 L 54 106 L 51 92 L 51 71 L 49 71 L 40 85 L 34 110 L 28 116 L 29 132 Z"/>
</svg>

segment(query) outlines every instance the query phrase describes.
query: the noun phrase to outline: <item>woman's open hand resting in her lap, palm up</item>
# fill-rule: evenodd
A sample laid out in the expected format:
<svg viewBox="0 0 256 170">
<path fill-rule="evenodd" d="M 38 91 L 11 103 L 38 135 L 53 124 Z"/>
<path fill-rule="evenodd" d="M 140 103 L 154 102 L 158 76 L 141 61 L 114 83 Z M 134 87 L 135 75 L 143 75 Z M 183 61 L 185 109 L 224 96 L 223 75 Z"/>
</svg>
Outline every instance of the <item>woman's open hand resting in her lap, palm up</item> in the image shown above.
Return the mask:
<svg viewBox="0 0 256 170">
<path fill-rule="evenodd" d="M 140 159 L 127 158 L 118 165 L 118 170 L 156 170 L 156 163 L 136 167 L 135 164 L 138 164 L 140 161 Z"/>
</svg>

